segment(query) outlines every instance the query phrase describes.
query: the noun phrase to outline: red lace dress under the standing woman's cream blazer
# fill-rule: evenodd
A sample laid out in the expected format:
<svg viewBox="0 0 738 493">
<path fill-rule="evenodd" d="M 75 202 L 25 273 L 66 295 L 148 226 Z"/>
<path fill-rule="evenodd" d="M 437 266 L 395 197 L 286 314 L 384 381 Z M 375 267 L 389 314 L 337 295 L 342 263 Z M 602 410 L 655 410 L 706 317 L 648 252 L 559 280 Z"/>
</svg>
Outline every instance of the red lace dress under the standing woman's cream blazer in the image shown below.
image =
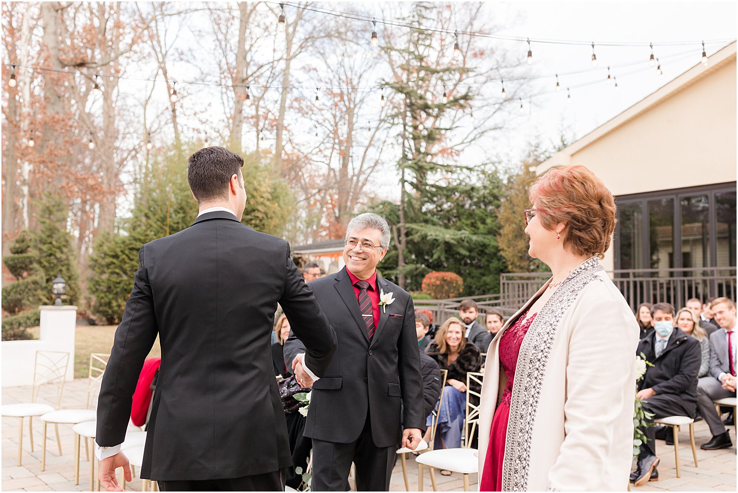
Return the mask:
<svg viewBox="0 0 738 493">
<path fill-rule="evenodd" d="M 481 492 L 503 491 L 503 458 L 505 457 L 505 440 L 517 356 L 520 352 L 520 345 L 523 344 L 523 338 L 528 333 L 528 328 L 533 323 L 536 314 L 533 314 L 530 318 L 525 318 L 527 316 L 527 311 L 520 315 L 500 339 L 500 365 L 502 365 L 508 380 L 503 392 L 503 399 L 500 401 L 500 405 L 497 406 L 497 410 L 494 411 L 494 418 L 492 418 L 492 431 L 489 433 L 489 447 L 487 448 L 480 482 Z"/>
</svg>

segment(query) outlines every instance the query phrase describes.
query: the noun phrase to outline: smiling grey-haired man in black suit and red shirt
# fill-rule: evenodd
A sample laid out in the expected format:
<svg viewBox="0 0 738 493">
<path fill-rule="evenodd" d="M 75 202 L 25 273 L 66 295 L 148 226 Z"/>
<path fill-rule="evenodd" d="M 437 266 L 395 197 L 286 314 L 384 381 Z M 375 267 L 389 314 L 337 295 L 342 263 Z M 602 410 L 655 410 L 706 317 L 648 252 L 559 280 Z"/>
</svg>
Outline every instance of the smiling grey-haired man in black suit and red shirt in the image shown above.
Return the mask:
<svg viewBox="0 0 738 493">
<path fill-rule="evenodd" d="M 421 440 L 413 299 L 376 272 L 389 244 L 387 221 L 356 216 L 346 230 L 345 269 L 310 283 L 338 336 L 324 376 L 316 379 L 301 360 L 305 346 L 297 331 L 285 343 L 285 361 L 303 387 L 313 387 L 304 432 L 313 439 L 313 491 L 348 491 L 352 462 L 359 491 L 389 491 L 397 444 L 415 449 Z"/>
</svg>

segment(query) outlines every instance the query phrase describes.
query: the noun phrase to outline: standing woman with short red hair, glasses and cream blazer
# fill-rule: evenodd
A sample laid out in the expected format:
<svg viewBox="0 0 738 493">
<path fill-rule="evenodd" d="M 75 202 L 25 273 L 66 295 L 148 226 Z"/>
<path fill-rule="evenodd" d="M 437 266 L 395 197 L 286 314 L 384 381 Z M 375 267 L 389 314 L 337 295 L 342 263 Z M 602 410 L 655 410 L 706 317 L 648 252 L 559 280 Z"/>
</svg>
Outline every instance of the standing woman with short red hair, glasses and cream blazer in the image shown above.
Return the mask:
<svg viewBox="0 0 738 493">
<path fill-rule="evenodd" d="M 528 255 L 552 277 L 487 350 L 480 490 L 624 491 L 638 324 L 599 263 L 615 201 L 584 166 L 549 170 L 529 198 Z"/>
</svg>

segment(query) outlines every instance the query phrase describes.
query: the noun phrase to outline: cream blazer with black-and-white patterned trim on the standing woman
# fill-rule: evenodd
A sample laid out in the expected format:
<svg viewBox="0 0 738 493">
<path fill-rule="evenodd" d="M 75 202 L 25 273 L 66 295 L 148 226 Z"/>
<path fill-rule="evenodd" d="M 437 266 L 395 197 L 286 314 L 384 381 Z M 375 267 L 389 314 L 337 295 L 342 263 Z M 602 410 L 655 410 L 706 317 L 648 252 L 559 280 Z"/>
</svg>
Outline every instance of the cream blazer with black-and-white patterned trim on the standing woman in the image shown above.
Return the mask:
<svg viewBox="0 0 738 493">
<path fill-rule="evenodd" d="M 479 424 L 480 479 L 507 378 L 487 351 Z M 596 257 L 538 312 L 520 347 L 503 460 L 503 491 L 625 491 L 632 464 L 638 323 Z"/>
</svg>

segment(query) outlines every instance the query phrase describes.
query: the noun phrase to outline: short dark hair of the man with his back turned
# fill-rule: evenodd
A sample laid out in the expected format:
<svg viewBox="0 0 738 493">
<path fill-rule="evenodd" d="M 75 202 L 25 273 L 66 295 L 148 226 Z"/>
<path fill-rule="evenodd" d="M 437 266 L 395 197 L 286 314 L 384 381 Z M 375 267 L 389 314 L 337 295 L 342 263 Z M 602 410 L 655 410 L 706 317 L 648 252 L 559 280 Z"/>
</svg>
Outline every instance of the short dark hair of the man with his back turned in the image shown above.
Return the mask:
<svg viewBox="0 0 738 493">
<path fill-rule="evenodd" d="M 244 158 L 226 148 L 206 147 L 187 159 L 187 182 L 198 202 L 227 199 L 231 176 L 243 165 Z"/>
</svg>

